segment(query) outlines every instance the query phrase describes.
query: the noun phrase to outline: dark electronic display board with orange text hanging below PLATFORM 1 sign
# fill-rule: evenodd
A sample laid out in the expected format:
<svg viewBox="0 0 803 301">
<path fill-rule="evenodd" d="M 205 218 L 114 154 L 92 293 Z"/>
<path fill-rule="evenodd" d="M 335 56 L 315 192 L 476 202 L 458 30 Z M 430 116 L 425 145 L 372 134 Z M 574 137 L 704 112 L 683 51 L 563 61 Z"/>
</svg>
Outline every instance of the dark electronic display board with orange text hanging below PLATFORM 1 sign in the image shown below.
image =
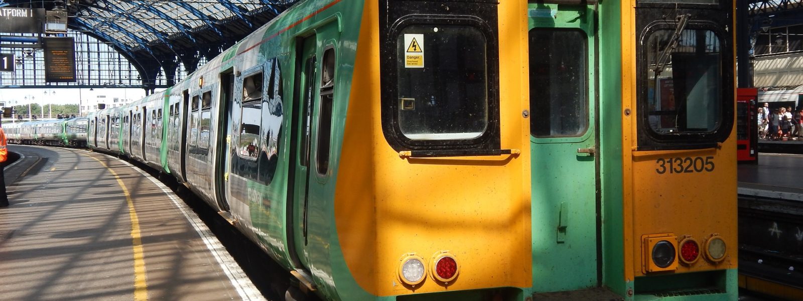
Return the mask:
<svg viewBox="0 0 803 301">
<path fill-rule="evenodd" d="M 75 83 L 75 41 L 72 38 L 44 38 L 45 81 Z"/>
</svg>

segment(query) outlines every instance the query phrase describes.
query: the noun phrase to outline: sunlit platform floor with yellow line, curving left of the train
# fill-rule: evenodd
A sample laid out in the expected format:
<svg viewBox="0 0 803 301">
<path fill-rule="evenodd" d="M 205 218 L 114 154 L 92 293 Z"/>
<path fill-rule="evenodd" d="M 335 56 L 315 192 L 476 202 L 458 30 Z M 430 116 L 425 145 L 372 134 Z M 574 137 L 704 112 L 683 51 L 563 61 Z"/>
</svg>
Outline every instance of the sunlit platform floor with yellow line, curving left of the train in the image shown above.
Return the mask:
<svg viewBox="0 0 803 301">
<path fill-rule="evenodd" d="M 262 300 L 191 209 L 115 157 L 9 145 L 2 300 Z"/>
</svg>

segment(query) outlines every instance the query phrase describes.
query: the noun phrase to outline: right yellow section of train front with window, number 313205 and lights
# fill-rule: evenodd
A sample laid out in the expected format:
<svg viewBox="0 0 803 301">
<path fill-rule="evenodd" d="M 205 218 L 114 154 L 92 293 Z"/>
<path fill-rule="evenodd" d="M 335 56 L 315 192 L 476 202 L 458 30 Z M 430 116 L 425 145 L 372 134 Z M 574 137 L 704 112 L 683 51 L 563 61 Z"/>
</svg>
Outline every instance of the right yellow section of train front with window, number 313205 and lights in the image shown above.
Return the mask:
<svg viewBox="0 0 803 301">
<path fill-rule="evenodd" d="M 627 299 L 736 300 L 734 3 L 621 12 L 622 207 L 605 202 L 605 284 Z"/>
</svg>

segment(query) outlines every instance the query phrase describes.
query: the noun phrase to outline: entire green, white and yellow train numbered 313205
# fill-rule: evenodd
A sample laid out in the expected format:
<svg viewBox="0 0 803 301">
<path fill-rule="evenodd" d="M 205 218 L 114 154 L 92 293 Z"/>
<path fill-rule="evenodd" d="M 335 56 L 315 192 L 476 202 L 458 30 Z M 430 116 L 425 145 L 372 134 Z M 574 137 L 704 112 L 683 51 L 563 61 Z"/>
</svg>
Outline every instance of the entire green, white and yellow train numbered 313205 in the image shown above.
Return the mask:
<svg viewBox="0 0 803 301">
<path fill-rule="evenodd" d="M 89 117 L 287 299 L 735 300 L 731 0 L 301 1 Z"/>
</svg>

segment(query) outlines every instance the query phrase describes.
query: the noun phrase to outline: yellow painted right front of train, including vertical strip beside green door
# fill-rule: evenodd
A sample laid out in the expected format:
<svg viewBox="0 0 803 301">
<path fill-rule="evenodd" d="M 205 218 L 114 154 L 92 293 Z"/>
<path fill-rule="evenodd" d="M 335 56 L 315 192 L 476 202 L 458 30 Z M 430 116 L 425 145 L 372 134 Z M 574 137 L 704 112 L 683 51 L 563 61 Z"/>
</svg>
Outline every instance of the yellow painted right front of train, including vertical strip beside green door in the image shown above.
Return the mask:
<svg viewBox="0 0 803 301">
<path fill-rule="evenodd" d="M 637 150 L 635 0 L 627 2 L 622 5 L 622 108 L 630 112 L 622 112 L 626 280 L 645 275 L 650 258 L 644 258 L 648 253 L 642 236 L 648 234 L 691 235 L 699 242 L 701 258 L 691 265 L 679 263 L 671 273 L 736 268 L 736 133 L 717 148 Z M 676 158 L 683 161 L 681 167 Z M 667 160 L 672 160 L 671 166 Z M 707 261 L 703 254 L 711 234 L 720 234 L 728 245 L 722 262 Z"/>
</svg>

